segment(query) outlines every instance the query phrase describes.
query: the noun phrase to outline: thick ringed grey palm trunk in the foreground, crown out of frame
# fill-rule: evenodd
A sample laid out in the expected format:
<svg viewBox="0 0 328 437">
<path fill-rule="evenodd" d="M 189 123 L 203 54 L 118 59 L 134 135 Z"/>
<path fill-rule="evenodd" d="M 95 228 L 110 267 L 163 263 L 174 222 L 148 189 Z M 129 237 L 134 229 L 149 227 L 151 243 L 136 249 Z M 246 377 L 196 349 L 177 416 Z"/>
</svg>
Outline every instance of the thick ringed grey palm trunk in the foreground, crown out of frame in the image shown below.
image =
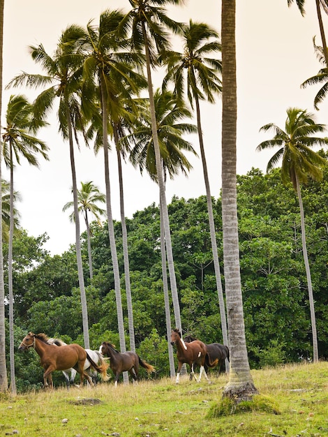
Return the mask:
<svg viewBox="0 0 328 437">
<path fill-rule="evenodd" d="M 236 1 L 223 0 L 222 40 L 222 221 L 225 297 L 230 349 L 229 382 L 224 397 L 250 399 L 257 390 L 248 363 L 239 265 L 237 217 Z"/>
</svg>

